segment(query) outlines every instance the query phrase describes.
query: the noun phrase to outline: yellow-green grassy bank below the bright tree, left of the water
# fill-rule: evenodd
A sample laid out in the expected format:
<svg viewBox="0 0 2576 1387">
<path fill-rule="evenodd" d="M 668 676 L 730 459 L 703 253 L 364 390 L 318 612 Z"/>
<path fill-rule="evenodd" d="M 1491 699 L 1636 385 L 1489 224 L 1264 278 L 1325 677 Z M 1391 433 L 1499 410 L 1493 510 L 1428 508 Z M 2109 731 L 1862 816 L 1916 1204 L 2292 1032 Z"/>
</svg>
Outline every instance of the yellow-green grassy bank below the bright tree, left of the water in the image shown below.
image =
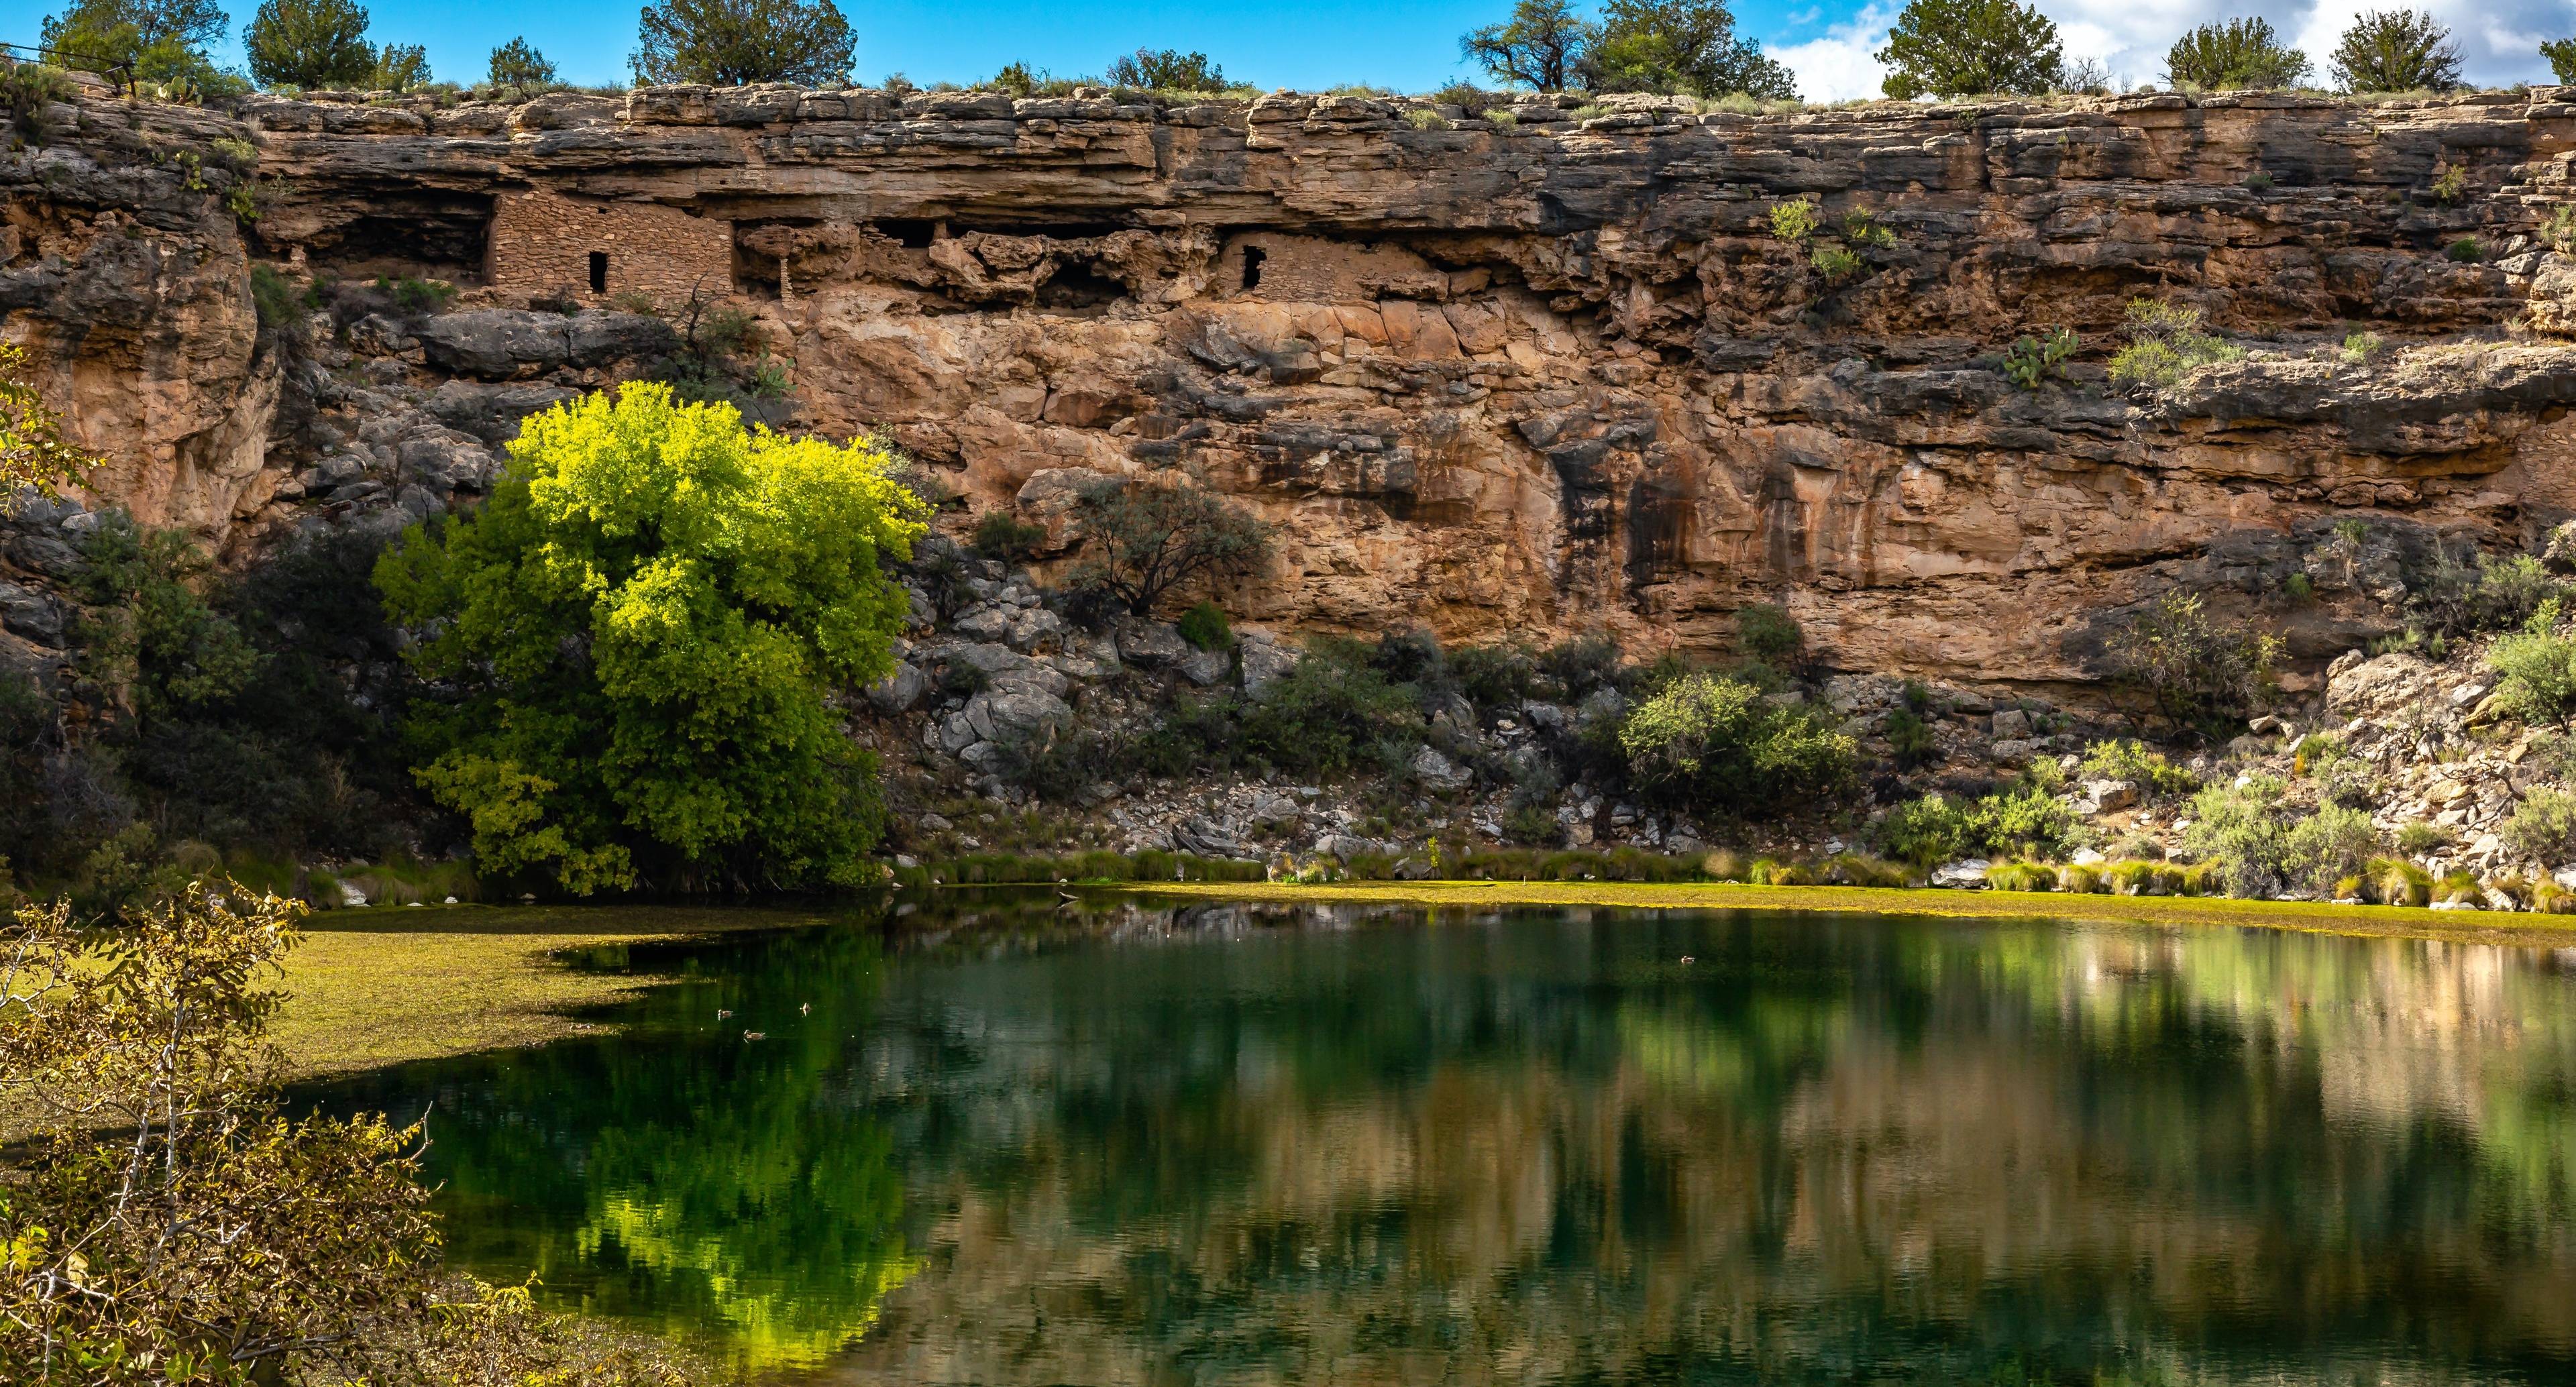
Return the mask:
<svg viewBox="0 0 2576 1387">
<path fill-rule="evenodd" d="M 296 1076 L 538 1045 L 590 1029 L 580 1011 L 652 978 L 582 973 L 554 955 L 822 916 L 752 908 L 420 908 L 332 911 L 286 960 L 276 1040 Z"/>
</svg>

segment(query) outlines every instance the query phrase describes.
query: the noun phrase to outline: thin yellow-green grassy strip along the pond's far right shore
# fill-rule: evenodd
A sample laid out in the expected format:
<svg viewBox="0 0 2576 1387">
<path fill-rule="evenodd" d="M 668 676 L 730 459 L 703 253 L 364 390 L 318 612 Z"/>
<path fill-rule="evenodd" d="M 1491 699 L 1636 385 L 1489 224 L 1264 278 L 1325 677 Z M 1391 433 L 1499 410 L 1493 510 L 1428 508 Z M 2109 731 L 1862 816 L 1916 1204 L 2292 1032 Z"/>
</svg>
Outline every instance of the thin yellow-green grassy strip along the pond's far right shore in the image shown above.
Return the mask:
<svg viewBox="0 0 2576 1387">
<path fill-rule="evenodd" d="M 1868 885 L 1739 883 L 1167 883 L 1126 890 L 1218 901 L 1386 903 L 1386 906 L 1620 906 L 1659 911 L 1844 911 L 1958 919 L 2069 919 L 2128 924 L 2239 924 L 2311 934 L 2378 934 L 2576 944 L 2576 916 L 2501 916 L 2411 906 L 2326 906 L 2316 901 L 2233 901 L 2226 896 L 2079 896 L 2058 890 L 1896 890 Z"/>
</svg>

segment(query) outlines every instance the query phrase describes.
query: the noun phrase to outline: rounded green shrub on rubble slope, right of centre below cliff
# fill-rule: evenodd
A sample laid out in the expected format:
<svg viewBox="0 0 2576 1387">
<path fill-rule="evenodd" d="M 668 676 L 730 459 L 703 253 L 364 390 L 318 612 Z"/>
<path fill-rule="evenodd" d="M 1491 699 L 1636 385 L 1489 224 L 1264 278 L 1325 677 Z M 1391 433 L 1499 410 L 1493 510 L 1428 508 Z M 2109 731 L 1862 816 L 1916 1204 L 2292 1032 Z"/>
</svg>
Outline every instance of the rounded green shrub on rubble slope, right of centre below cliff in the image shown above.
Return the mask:
<svg viewBox="0 0 2576 1387">
<path fill-rule="evenodd" d="M 1674 679 L 1618 726 L 1631 782 L 1667 805 L 1718 813 L 1824 808 L 1857 769 L 1852 739 L 1806 708 L 1713 674 Z"/>
</svg>

